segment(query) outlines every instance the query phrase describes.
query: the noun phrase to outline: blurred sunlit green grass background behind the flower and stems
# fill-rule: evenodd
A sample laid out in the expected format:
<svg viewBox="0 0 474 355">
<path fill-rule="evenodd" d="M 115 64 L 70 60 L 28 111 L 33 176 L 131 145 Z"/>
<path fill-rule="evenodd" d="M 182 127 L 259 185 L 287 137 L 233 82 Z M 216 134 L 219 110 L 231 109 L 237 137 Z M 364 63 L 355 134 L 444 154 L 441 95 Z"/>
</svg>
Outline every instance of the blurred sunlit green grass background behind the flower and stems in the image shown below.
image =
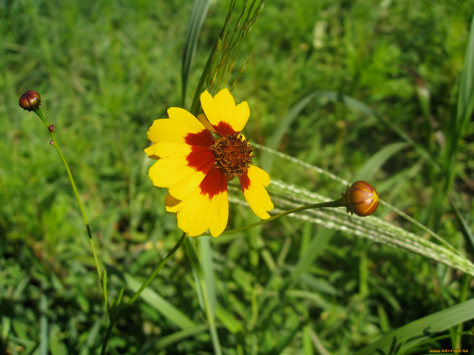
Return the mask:
<svg viewBox="0 0 474 355">
<path fill-rule="evenodd" d="M 210 4 L 186 108 L 228 5 Z M 166 189 L 147 177 L 153 161 L 143 150 L 153 120 L 180 105 L 191 7 L 189 0 L 0 0 L 0 329 L 8 354 L 99 354 L 108 326 L 64 166 L 45 141 L 44 124 L 22 111 L 18 98 L 29 89 L 41 94 L 41 110 L 57 124 L 99 258 L 109 273 L 115 270 L 109 293 L 124 284 L 129 297 L 131 284 L 143 281 L 181 236 L 175 214 L 164 210 Z M 369 105 L 436 155 L 456 108 L 473 11 L 469 0 L 267 1 L 235 65 L 238 70 L 252 54 L 233 91 L 237 103 L 247 100 L 250 107 L 246 137 L 265 145 L 301 98 L 334 90 Z M 427 92 L 429 106 L 423 101 Z M 473 133 L 469 122 L 451 189 L 470 227 Z M 394 142 L 402 142 L 399 135 L 373 116 L 312 100 L 276 149 L 353 181 L 369 158 Z M 255 155 L 258 162 L 262 152 Z M 269 173 L 334 199 L 344 191 L 286 160 L 275 158 Z M 416 151 L 396 151 L 370 175 L 382 198 L 464 250 L 447 200 L 433 207 L 436 175 Z M 376 215 L 423 235 L 383 207 Z M 248 222 L 255 222 L 250 209 L 231 205 L 228 228 Z M 313 236 L 327 242 L 315 250 L 308 279 L 300 285 L 307 297 L 283 297 L 261 322 L 266 303 L 255 300 L 263 290 L 279 289 Z M 272 354 L 288 335 L 280 349 L 285 354 L 326 354 L 325 349 L 348 354 L 461 297 L 464 276 L 456 270 L 309 222 L 280 219 L 210 242 L 219 314 L 228 312 L 235 320 L 234 328 L 218 328 L 225 354 Z M 192 324 L 205 324 L 182 250 L 151 288 Z M 270 297 L 279 300 L 274 293 Z M 310 326 L 299 326 L 298 310 Z M 114 328 L 109 352 L 145 354 L 146 347 L 150 354 L 213 352 L 206 328 L 174 343 L 160 342 L 183 328 L 177 323 L 153 298 L 139 299 Z M 315 334 L 322 349 L 312 345 Z M 49 350 L 42 347 L 48 339 Z M 447 339 L 440 346 L 452 345 Z M 461 348 L 472 347 L 472 338 L 463 337 Z"/>
</svg>

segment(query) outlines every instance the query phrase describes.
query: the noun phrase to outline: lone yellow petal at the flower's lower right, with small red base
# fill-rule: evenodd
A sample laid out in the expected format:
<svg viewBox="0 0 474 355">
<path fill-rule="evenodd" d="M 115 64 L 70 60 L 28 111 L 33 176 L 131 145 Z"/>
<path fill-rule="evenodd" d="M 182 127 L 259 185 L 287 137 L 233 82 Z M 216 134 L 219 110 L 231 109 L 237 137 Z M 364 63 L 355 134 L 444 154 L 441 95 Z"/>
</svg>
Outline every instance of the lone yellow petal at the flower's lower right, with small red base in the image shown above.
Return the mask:
<svg viewBox="0 0 474 355">
<path fill-rule="evenodd" d="M 252 211 L 261 219 L 269 218 L 270 215 L 266 211 L 273 209 L 273 203 L 264 187 L 270 184 L 268 174 L 251 165 L 245 174 L 239 176 L 239 180 L 244 197 Z"/>
</svg>

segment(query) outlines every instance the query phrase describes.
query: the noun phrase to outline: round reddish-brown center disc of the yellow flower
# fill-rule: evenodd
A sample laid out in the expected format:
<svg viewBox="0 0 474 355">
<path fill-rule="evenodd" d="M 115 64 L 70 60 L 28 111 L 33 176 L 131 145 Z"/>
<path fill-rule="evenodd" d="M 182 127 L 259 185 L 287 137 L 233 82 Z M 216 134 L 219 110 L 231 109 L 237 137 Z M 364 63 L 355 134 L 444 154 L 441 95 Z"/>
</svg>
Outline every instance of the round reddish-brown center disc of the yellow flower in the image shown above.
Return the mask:
<svg viewBox="0 0 474 355">
<path fill-rule="evenodd" d="M 252 147 L 248 140 L 237 133 L 219 138 L 212 146 L 216 163 L 228 180 L 245 173 L 252 164 Z"/>
</svg>

